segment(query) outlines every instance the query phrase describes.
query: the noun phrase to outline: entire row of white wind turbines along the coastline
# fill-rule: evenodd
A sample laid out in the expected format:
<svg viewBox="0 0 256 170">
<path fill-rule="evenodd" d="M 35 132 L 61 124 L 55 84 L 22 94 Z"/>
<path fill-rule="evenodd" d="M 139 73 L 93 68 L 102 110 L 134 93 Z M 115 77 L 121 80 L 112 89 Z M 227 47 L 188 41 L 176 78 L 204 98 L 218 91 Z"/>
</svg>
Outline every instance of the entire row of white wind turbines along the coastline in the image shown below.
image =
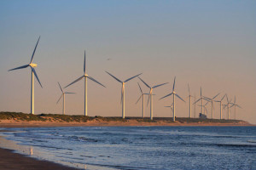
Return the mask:
<svg viewBox="0 0 256 170">
<path fill-rule="evenodd" d="M 40 37 L 38 38 L 38 42 L 40 40 Z M 37 78 L 38 80 L 38 83 L 40 84 L 41 88 L 43 88 L 41 82 L 39 81 L 39 78 L 38 78 L 38 75 L 36 73 L 36 70 L 35 70 L 35 67 L 37 67 L 37 64 L 34 64 L 32 63 L 32 60 L 34 58 L 34 54 L 36 52 L 36 49 L 38 47 L 38 42 L 33 50 L 33 53 L 32 53 L 32 58 L 30 60 L 30 63 L 27 64 L 27 65 L 22 65 L 22 66 L 19 66 L 19 67 L 16 67 L 14 69 L 11 69 L 9 71 L 15 71 L 15 70 L 19 70 L 19 69 L 24 69 L 26 67 L 30 67 L 31 68 L 31 72 L 32 72 L 32 84 L 31 84 L 31 114 L 34 114 L 34 77 Z M 81 77 L 79 77 L 78 79 L 76 79 L 75 81 L 71 82 L 70 84 L 68 84 L 65 88 L 73 85 L 75 82 L 79 82 L 80 80 L 84 79 L 84 116 L 88 116 L 88 113 L 87 113 L 87 79 L 90 79 L 92 82 L 96 82 L 98 85 L 106 88 L 106 86 L 104 86 L 101 82 L 98 82 L 96 81 L 95 78 L 93 77 L 90 77 L 87 72 L 86 72 L 86 57 L 85 57 L 85 51 L 84 51 L 84 73 Z M 143 114 L 142 116 L 144 117 L 145 114 L 144 114 L 144 96 L 145 95 L 148 95 L 148 103 L 149 103 L 149 100 L 150 100 L 150 119 L 153 120 L 153 90 L 154 88 L 159 88 L 160 86 L 163 86 L 163 85 L 166 85 L 168 82 L 165 82 L 165 83 L 161 83 L 161 84 L 158 84 L 158 85 L 155 85 L 155 86 L 149 86 L 148 83 L 144 82 L 143 79 L 141 77 L 139 77 L 140 75 L 142 75 L 143 73 L 140 73 L 140 74 L 137 74 L 136 76 L 133 76 L 133 77 L 130 77 L 128 79 L 126 79 L 125 81 L 121 81 L 119 80 L 119 78 L 117 77 L 114 77 L 111 73 L 109 73 L 108 71 L 106 71 L 106 73 L 108 73 L 108 75 L 110 77 L 113 77 L 114 80 L 116 80 L 117 82 L 121 83 L 122 85 L 122 88 L 121 88 L 121 104 L 122 104 L 122 118 L 125 118 L 125 83 L 131 81 L 132 79 L 134 78 L 138 78 L 141 82 L 143 82 L 143 84 L 149 88 L 149 93 L 148 94 L 145 94 L 143 93 L 143 90 L 140 86 L 140 84 L 138 83 L 138 88 L 140 89 L 140 92 L 141 92 L 141 95 L 139 97 L 139 99 L 137 100 L 136 104 L 138 103 L 138 101 L 140 99 L 143 100 Z M 176 92 L 175 92 L 175 81 L 176 81 L 176 77 L 174 77 L 174 81 L 173 81 L 173 87 L 172 87 L 172 92 L 171 94 L 167 94 L 166 96 L 160 98 L 160 99 L 165 99 L 169 96 L 172 96 L 173 98 L 173 101 L 172 101 L 172 105 L 169 105 L 169 106 L 166 106 L 166 107 L 170 107 L 171 108 L 171 111 L 172 111 L 172 117 L 173 117 L 173 121 L 175 121 L 175 118 L 176 118 L 176 115 L 175 115 L 175 99 L 176 97 L 178 99 L 181 99 L 183 102 L 185 102 Z M 58 102 L 61 100 L 61 98 L 63 99 L 63 108 L 62 108 L 62 114 L 65 114 L 65 94 L 75 94 L 75 93 L 72 93 L 72 92 L 64 92 L 63 88 L 61 88 L 61 84 L 58 82 L 58 85 L 59 85 L 59 88 L 61 89 L 61 97 L 60 99 L 57 100 L 57 104 Z M 189 89 L 189 84 L 188 84 L 188 89 Z M 204 97 L 202 96 L 201 94 L 201 97 L 200 99 L 196 100 L 194 105 L 196 105 L 197 102 L 201 101 L 201 113 L 203 113 L 204 111 L 206 111 L 206 105 L 208 103 L 211 103 L 212 104 L 212 118 L 213 118 L 213 102 L 218 102 L 220 104 L 220 119 L 222 119 L 222 108 L 227 108 L 228 109 L 228 119 L 230 119 L 230 108 L 231 107 L 235 107 L 235 119 L 236 119 L 236 106 L 241 108 L 240 105 L 237 105 L 236 104 L 236 97 L 235 97 L 235 100 L 234 102 L 232 103 L 231 100 L 228 99 L 228 96 L 227 94 L 224 95 L 224 97 L 226 97 L 227 99 L 227 104 L 224 105 L 223 104 L 223 99 L 220 99 L 220 100 L 216 100 L 216 97 L 218 96 L 219 94 L 217 94 L 216 96 L 214 96 L 213 98 L 207 98 L 207 97 Z M 192 96 L 190 94 L 190 89 L 189 89 L 189 118 L 191 118 L 191 110 L 192 110 L 192 97 L 195 98 L 195 96 Z M 207 101 L 207 104 L 203 105 L 203 100 L 206 100 Z"/>
</svg>

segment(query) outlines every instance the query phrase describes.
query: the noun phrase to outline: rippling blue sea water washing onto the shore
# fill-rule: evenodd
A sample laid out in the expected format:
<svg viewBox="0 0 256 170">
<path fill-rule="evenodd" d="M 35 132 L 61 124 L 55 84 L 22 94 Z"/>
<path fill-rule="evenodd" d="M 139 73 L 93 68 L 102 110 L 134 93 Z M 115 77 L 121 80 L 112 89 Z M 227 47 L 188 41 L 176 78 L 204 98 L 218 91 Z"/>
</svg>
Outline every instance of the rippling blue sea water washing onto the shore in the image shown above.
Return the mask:
<svg viewBox="0 0 256 170">
<path fill-rule="evenodd" d="M 14 141 L 15 152 L 80 169 L 256 170 L 256 127 L 22 127 L 2 130 L 9 130 L 0 135 Z"/>
</svg>

